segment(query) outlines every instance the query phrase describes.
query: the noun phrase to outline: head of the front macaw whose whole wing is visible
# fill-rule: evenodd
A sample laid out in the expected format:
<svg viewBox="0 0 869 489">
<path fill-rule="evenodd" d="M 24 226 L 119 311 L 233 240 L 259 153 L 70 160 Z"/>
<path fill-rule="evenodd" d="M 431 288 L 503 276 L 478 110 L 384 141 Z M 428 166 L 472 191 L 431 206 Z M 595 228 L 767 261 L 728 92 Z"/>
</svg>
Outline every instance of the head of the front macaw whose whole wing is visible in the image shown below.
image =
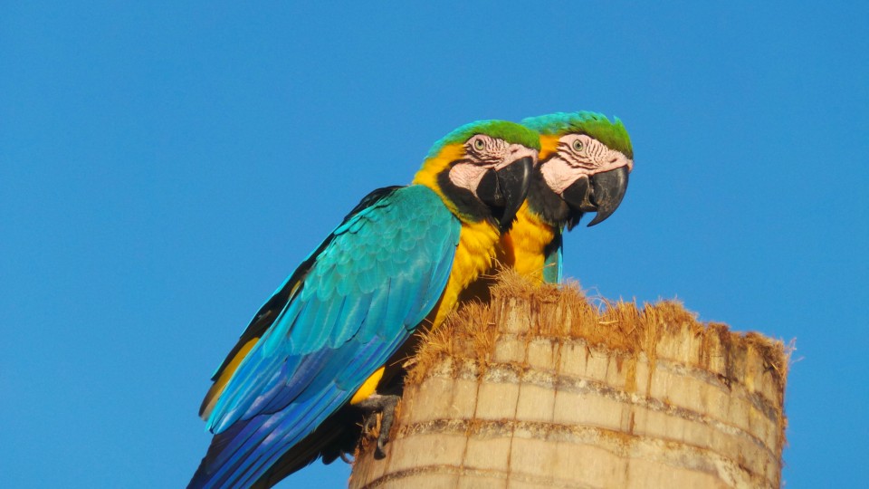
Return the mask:
<svg viewBox="0 0 869 489">
<path fill-rule="evenodd" d="M 414 183 L 434 190 L 463 222 L 510 229 L 537 163 L 540 134 L 506 120 L 480 120 L 444 136 Z"/>
</svg>

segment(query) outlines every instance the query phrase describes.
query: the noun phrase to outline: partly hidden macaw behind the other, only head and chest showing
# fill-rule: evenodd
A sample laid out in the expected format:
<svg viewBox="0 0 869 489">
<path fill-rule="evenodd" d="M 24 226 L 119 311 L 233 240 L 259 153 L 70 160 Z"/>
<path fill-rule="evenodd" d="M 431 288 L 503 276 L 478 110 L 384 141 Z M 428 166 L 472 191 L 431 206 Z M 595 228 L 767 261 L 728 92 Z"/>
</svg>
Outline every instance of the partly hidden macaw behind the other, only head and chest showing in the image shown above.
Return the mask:
<svg viewBox="0 0 869 489">
<path fill-rule="evenodd" d="M 586 212 L 597 212 L 592 226 L 616 211 L 634 149 L 622 121 L 597 112 L 559 112 L 521 123 L 540 132 L 540 158 L 525 204 L 501 237 L 498 258 L 532 280 L 560 283 L 565 227 L 572 229 Z"/>
</svg>

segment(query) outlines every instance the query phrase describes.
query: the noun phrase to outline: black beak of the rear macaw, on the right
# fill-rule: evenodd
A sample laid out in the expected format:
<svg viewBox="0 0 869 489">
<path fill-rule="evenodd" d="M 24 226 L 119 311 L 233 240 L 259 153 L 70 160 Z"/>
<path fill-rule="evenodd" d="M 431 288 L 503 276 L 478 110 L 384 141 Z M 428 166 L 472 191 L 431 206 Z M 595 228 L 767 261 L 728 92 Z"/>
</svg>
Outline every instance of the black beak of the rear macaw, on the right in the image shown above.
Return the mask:
<svg viewBox="0 0 869 489">
<path fill-rule="evenodd" d="M 580 212 L 597 212 L 588 227 L 604 222 L 622 203 L 627 191 L 627 167 L 582 177 L 566 188 L 561 197 L 568 206 Z"/>
</svg>

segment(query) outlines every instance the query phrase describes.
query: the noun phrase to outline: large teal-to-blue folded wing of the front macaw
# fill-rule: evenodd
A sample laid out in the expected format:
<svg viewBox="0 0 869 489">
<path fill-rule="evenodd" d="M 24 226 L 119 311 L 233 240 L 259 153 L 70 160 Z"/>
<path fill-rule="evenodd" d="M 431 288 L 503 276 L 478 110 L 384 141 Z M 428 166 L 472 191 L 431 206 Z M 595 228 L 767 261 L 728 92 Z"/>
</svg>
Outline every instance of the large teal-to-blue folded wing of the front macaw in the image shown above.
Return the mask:
<svg viewBox="0 0 869 489">
<path fill-rule="evenodd" d="M 460 231 L 426 187 L 363 199 L 245 331 L 260 340 L 208 418 L 190 487 L 253 484 L 346 404 L 434 308 Z"/>
</svg>

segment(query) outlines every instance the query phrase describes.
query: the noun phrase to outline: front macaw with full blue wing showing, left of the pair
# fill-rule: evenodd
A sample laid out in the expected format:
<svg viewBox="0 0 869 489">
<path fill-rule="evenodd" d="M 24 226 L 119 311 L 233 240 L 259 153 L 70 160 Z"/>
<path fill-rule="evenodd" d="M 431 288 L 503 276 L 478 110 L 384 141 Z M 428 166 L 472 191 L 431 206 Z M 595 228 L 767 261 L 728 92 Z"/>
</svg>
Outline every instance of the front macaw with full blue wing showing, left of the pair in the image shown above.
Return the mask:
<svg viewBox="0 0 869 489">
<path fill-rule="evenodd" d="M 270 486 L 330 453 L 344 408 L 386 410 L 387 360 L 491 266 L 539 149 L 519 124 L 473 122 L 435 143 L 411 185 L 364 197 L 215 372 L 200 409 L 215 436 L 188 487 Z"/>
</svg>

